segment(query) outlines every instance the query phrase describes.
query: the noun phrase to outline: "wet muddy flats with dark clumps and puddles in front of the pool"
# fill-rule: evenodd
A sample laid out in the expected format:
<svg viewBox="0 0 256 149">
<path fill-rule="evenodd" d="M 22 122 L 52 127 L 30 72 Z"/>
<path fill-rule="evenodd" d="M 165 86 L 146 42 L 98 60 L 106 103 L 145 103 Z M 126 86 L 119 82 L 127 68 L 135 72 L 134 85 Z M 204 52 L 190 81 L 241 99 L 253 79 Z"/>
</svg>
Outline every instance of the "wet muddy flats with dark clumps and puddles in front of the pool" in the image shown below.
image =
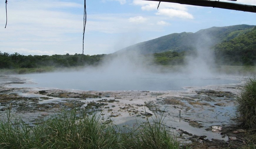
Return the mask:
<svg viewBox="0 0 256 149">
<path fill-rule="evenodd" d="M 184 144 L 193 142 L 195 148 L 230 148 L 243 142 L 241 132 L 233 133 L 239 130 L 234 109 L 242 81 L 184 87 L 185 91 L 81 91 L 9 86 L 25 82 L 18 77 L 0 76 L 0 115 L 10 110 L 33 125 L 53 113 L 77 108 L 87 114 L 98 112 L 104 122 L 123 127 L 163 115 L 166 127 L 177 139 Z"/>
</svg>

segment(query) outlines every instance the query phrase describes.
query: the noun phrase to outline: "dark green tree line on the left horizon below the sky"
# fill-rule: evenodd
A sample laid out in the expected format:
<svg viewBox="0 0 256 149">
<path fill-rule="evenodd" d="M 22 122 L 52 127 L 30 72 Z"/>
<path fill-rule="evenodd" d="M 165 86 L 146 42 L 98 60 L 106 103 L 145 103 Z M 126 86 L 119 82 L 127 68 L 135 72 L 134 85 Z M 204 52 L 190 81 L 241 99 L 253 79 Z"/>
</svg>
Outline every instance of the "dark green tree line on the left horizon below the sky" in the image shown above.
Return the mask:
<svg viewBox="0 0 256 149">
<path fill-rule="evenodd" d="M 54 66 L 54 67 L 74 67 L 74 66 L 85 66 L 85 65 L 97 65 L 105 54 L 98 55 L 83 55 L 82 54 L 66 54 L 66 55 L 28 55 L 24 56 L 15 52 L 9 54 L 7 52 L 2 53 L 0 51 L 0 68 L 37 68 L 43 66 Z"/>
</svg>

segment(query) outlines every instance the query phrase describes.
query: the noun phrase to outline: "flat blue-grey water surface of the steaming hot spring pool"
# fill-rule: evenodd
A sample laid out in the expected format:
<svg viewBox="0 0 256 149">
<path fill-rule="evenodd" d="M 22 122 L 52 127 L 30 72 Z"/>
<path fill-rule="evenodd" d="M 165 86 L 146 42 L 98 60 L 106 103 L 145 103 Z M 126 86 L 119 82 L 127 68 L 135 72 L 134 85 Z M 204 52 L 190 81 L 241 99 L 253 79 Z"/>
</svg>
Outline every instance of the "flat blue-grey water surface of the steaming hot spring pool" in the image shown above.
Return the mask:
<svg viewBox="0 0 256 149">
<path fill-rule="evenodd" d="M 184 91 L 183 87 L 233 84 L 239 81 L 219 77 L 190 77 L 180 74 L 91 73 L 84 71 L 16 75 L 26 80 L 15 87 L 43 87 L 83 91 Z"/>
</svg>

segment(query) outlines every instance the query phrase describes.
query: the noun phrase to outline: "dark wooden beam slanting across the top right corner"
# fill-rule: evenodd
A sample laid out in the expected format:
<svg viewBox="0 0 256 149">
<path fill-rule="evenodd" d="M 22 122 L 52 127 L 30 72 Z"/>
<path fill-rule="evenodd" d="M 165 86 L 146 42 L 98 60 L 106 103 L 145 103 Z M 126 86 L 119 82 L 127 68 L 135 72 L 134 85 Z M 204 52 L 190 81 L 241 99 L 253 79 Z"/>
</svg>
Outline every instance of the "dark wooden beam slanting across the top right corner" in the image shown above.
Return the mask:
<svg viewBox="0 0 256 149">
<path fill-rule="evenodd" d="M 216 8 L 256 13 L 256 6 L 222 2 L 222 1 L 210 1 L 210 0 L 145 0 L 145 1 L 161 1 L 161 2 L 179 3 L 179 4 L 213 7 L 213 8 L 216 7 Z"/>
</svg>

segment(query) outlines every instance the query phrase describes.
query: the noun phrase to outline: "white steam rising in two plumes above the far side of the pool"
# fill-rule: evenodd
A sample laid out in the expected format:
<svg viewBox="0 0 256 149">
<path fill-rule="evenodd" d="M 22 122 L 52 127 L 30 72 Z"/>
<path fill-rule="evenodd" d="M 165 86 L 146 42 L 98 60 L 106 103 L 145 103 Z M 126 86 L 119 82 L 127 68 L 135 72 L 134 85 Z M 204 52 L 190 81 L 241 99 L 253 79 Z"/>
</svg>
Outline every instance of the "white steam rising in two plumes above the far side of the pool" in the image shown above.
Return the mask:
<svg viewBox="0 0 256 149">
<path fill-rule="evenodd" d="M 173 79 L 209 79 L 213 78 L 216 73 L 215 55 L 210 49 L 213 41 L 207 35 L 201 35 L 198 42 L 195 43 L 196 51 L 193 55 L 185 58 L 185 66 L 176 66 L 178 69 L 166 69 L 162 66 L 156 66 L 153 63 L 153 56 L 148 57 L 140 54 L 140 49 L 132 51 L 116 52 L 103 60 L 103 65 L 98 67 L 101 73 L 108 75 L 108 78 L 122 77 L 130 78 L 143 76 L 148 73 L 169 76 Z"/>
</svg>

